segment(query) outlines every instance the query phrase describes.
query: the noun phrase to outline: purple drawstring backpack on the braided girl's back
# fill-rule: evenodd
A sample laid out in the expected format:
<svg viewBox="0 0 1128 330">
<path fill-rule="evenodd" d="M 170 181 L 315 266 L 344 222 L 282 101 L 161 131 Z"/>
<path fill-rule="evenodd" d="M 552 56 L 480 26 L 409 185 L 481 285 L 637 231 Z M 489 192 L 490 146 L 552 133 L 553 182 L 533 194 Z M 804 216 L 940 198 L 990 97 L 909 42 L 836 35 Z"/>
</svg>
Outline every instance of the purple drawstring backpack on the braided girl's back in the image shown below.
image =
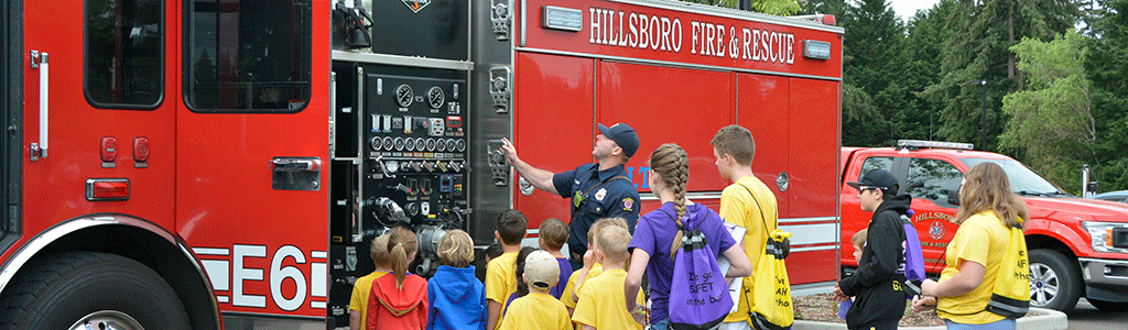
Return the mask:
<svg viewBox="0 0 1128 330">
<path fill-rule="evenodd" d="M 697 229 L 698 223 L 690 222 L 688 216 L 684 216 L 681 223 L 681 249 L 673 259 L 673 280 L 670 282 L 670 327 L 676 330 L 710 329 L 729 315 L 732 296 L 716 256 L 708 248 L 705 234 Z"/>
</svg>

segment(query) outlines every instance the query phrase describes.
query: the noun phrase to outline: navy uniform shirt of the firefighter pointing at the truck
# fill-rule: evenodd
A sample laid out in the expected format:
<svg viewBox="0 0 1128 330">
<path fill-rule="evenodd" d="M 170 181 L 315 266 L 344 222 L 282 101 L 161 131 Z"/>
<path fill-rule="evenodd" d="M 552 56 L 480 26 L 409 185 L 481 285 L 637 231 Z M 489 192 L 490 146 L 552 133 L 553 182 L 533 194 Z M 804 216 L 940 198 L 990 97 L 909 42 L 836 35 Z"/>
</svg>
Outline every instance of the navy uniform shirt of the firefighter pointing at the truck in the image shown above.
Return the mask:
<svg viewBox="0 0 1128 330">
<path fill-rule="evenodd" d="M 564 198 L 572 198 L 569 225 L 569 251 L 573 265 L 582 262 L 588 251 L 588 229 L 602 217 L 623 217 L 634 231 L 638 221 L 638 190 L 623 166 L 600 171 L 598 163 L 585 163 L 553 176 L 553 186 Z"/>
</svg>

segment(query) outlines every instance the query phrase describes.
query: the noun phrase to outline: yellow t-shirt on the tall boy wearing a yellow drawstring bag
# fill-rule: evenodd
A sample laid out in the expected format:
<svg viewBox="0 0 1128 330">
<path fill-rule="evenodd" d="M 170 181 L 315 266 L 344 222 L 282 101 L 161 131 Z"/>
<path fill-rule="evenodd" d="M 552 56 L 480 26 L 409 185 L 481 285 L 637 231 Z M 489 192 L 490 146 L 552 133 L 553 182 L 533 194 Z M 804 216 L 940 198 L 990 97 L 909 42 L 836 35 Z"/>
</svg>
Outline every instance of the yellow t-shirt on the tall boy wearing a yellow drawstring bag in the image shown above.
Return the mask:
<svg viewBox="0 0 1128 330">
<path fill-rule="evenodd" d="M 748 189 L 744 189 L 748 187 Z M 751 190 L 756 194 L 756 199 L 748 194 Z M 763 203 L 764 205 L 757 205 L 756 202 Z M 764 209 L 765 214 L 761 214 L 760 209 Z M 764 185 L 760 179 L 756 177 L 746 177 L 737 181 L 737 184 L 729 185 L 721 191 L 721 218 L 725 222 L 742 226 L 748 231 L 744 232 L 744 255 L 748 256 L 748 261 L 752 262 L 752 269 L 759 265 L 760 256 L 764 255 L 764 244 L 767 241 L 767 232 L 775 230 L 776 221 L 778 218 L 778 209 L 776 208 L 775 194 L 768 186 Z M 764 230 L 764 224 L 767 223 L 767 231 Z M 748 320 L 748 306 L 752 303 L 752 285 L 756 283 L 755 271 L 752 275 L 743 278 L 743 284 L 741 288 L 744 291 L 743 298 L 737 301 L 737 311 L 730 313 L 728 318 L 724 319 L 725 322 L 737 322 Z"/>
</svg>

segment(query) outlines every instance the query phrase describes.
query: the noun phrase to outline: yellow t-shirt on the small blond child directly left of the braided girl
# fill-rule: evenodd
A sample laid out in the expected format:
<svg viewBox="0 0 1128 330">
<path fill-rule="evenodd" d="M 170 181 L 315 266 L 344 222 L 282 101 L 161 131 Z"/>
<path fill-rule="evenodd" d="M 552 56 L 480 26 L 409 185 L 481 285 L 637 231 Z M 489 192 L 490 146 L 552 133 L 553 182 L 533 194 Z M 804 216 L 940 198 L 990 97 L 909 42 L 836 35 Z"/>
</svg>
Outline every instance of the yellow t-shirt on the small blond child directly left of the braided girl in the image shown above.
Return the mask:
<svg viewBox="0 0 1128 330">
<path fill-rule="evenodd" d="M 642 330 L 642 324 L 634 321 L 623 301 L 623 283 L 626 278 L 626 270 L 613 269 L 584 282 L 580 288 L 580 302 L 572 313 L 572 322 L 596 329 Z"/>
</svg>

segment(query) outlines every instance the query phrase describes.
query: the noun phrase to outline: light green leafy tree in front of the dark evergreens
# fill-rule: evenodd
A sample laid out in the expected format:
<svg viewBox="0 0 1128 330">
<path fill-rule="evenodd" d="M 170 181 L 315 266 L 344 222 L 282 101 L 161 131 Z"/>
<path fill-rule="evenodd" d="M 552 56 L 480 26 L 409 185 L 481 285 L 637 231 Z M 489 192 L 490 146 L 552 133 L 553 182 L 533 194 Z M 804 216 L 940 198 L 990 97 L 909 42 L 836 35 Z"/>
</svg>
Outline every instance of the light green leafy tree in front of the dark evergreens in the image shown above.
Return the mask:
<svg viewBox="0 0 1128 330">
<path fill-rule="evenodd" d="M 1076 181 L 1070 178 L 1076 178 L 1082 160 L 1091 159 L 1096 139 L 1085 38 L 1070 30 L 1048 43 L 1023 38 L 1011 51 L 1019 55 L 1028 89 L 1003 98 L 1011 119 L 1001 145 L 1020 151 L 1026 166 L 1051 181 Z"/>
</svg>

